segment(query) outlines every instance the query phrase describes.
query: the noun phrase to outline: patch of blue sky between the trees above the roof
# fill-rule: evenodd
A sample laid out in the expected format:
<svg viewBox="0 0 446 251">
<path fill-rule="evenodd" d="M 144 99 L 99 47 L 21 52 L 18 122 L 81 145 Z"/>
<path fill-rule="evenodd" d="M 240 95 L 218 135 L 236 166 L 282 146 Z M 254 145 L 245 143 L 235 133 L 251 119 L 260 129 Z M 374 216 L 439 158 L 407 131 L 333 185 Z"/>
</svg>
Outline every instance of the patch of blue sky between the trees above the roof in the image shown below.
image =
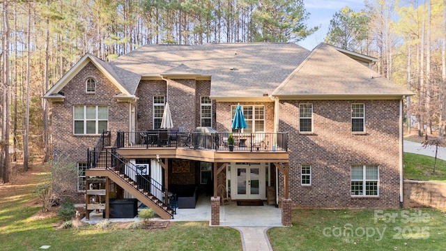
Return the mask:
<svg viewBox="0 0 446 251">
<path fill-rule="evenodd" d="M 345 6 L 353 11 L 359 11 L 364 8 L 364 0 L 304 0 L 305 10 L 307 10 L 309 19 L 308 27 L 321 26 L 318 31 L 308 36 L 298 44 L 307 50 L 313 50 L 319 43 L 323 42 L 330 26 L 330 20 L 334 13 L 339 12 Z"/>
</svg>

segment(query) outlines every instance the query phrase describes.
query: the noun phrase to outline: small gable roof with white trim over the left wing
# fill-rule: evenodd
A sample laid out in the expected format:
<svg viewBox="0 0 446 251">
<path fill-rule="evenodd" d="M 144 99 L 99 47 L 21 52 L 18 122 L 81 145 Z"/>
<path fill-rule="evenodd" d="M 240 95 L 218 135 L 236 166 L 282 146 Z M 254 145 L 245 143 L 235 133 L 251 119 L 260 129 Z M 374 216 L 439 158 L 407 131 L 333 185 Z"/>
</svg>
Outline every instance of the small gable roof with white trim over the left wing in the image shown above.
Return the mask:
<svg viewBox="0 0 446 251">
<path fill-rule="evenodd" d="M 70 80 L 79 73 L 82 68 L 84 68 L 87 63 L 93 63 L 93 65 L 100 70 L 115 86 L 123 93 L 124 96 L 132 96 L 134 91 L 136 91 L 137 84 L 141 76 L 134 74 L 128 70 L 116 68 L 105 61 L 102 61 L 92 54 L 85 54 L 79 61 L 73 66 L 68 72 L 59 79 L 54 86 L 52 86 L 43 98 L 49 99 L 63 99 L 63 95 L 59 93 Z M 124 79 L 124 80 L 122 80 Z"/>
</svg>

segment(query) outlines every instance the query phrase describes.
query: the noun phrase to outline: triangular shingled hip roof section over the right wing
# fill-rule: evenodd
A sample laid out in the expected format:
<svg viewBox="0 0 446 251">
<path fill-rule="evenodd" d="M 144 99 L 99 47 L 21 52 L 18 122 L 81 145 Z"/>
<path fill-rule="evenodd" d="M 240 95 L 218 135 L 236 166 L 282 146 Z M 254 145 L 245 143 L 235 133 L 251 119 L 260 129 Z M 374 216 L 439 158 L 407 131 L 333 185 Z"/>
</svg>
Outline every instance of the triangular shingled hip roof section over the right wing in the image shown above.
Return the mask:
<svg viewBox="0 0 446 251">
<path fill-rule="evenodd" d="M 321 43 L 272 93 L 280 99 L 393 99 L 413 93 Z"/>
</svg>

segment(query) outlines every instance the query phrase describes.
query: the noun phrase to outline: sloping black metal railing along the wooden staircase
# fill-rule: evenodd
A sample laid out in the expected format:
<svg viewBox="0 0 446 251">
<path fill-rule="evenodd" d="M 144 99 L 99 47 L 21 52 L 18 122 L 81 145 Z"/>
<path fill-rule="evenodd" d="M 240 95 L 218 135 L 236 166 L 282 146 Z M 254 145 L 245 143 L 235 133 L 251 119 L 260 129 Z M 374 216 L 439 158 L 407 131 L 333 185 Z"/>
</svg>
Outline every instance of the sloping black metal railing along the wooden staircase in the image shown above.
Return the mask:
<svg viewBox="0 0 446 251">
<path fill-rule="evenodd" d="M 89 156 L 96 153 L 93 151 L 89 152 Z M 90 158 L 89 158 L 90 159 Z M 89 164 L 89 168 L 96 167 L 96 165 L 100 168 L 110 169 L 113 171 L 119 171 L 120 174 L 124 174 L 123 181 L 128 183 L 129 185 L 137 185 L 137 190 L 143 190 L 144 192 L 148 192 L 154 197 L 156 197 L 159 201 L 162 201 L 162 206 L 167 206 L 171 211 L 176 213 L 176 208 L 170 208 L 169 199 L 174 196 L 172 192 L 167 190 L 163 185 L 155 181 L 149 174 L 142 174 L 141 170 L 138 169 L 136 165 L 132 162 L 128 161 L 119 153 L 116 153 L 116 149 L 108 150 L 104 149 L 100 158 L 97 160 L 95 165 Z M 133 181 L 133 183 L 131 182 Z M 139 191 L 140 192 L 140 191 Z M 144 194 L 144 192 L 141 192 Z M 167 195 L 167 196 L 166 196 Z M 148 198 L 150 199 L 150 198 Z M 153 199 L 151 199 L 154 201 Z M 155 204 L 156 201 L 154 201 Z M 162 208 L 162 206 L 158 205 L 158 207 Z M 164 210 L 164 208 L 162 208 Z M 166 211 L 166 210 L 164 210 Z M 169 213 L 167 211 L 167 213 Z"/>
</svg>

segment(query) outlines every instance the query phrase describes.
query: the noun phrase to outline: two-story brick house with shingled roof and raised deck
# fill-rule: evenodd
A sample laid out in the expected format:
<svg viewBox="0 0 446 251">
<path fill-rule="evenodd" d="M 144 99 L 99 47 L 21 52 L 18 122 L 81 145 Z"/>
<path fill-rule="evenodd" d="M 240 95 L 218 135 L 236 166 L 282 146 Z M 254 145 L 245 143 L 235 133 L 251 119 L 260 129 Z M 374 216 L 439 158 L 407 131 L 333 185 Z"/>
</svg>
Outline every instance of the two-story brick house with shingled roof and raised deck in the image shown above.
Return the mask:
<svg viewBox="0 0 446 251">
<path fill-rule="evenodd" d="M 53 158 L 78 169 L 61 185 L 107 216 L 109 199 L 134 197 L 170 218 L 171 201 L 193 207 L 190 197 L 205 192 L 212 215 L 220 197 L 263 200 L 289 215 L 284 225 L 292 207 L 397 208 L 402 102 L 413 93 L 374 73 L 374 61 L 323 43 L 311 52 L 146 45 L 109 63 L 86 54 L 44 96 Z M 167 103 L 174 128 L 164 131 Z M 235 130 L 238 104 L 247 128 Z M 93 176 L 107 188 L 99 206 L 89 199 Z"/>
</svg>

